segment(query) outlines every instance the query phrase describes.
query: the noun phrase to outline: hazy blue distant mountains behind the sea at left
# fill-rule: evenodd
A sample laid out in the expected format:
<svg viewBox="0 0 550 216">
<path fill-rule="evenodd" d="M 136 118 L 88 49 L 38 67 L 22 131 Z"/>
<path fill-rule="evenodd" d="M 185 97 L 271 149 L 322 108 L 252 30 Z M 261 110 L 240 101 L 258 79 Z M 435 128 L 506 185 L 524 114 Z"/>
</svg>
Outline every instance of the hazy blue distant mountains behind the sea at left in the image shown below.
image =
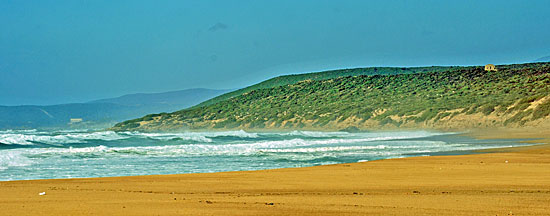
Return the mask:
<svg viewBox="0 0 550 216">
<path fill-rule="evenodd" d="M 191 107 L 228 91 L 187 89 L 129 94 L 88 103 L 0 106 L 0 129 L 104 128 L 149 113 L 173 112 Z"/>
</svg>

